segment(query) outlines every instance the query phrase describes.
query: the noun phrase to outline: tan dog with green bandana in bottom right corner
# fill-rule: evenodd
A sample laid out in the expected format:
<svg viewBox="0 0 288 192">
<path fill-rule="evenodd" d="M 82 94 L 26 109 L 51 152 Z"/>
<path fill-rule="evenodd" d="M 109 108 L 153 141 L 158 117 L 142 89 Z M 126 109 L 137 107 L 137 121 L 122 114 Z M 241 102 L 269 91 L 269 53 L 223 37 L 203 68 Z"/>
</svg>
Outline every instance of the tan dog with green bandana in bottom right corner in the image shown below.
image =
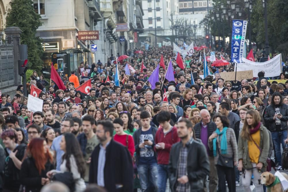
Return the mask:
<svg viewBox="0 0 288 192">
<path fill-rule="evenodd" d="M 281 174 L 288 180 L 288 175 L 286 173 L 281 172 Z M 275 181 L 275 175 L 270 172 L 264 172 L 261 174 L 259 182 L 262 185 L 266 185 L 268 192 L 288 192 L 288 189 L 283 191 L 281 183 L 277 183 L 273 187 L 268 187 Z"/>
</svg>

